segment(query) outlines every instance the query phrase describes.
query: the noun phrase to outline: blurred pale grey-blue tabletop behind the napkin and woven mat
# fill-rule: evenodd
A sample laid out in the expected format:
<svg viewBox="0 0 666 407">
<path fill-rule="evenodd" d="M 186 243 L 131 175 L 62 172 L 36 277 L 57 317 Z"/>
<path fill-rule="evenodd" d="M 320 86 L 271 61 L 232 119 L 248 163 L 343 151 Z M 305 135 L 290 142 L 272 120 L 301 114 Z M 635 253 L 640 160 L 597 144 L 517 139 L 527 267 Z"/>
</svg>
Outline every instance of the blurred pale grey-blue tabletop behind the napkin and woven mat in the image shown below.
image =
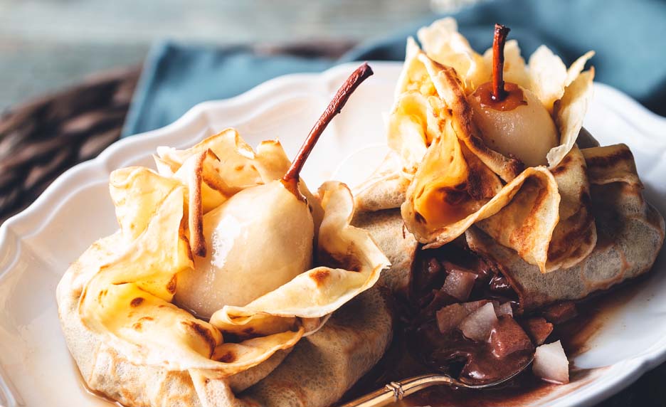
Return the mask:
<svg viewBox="0 0 666 407">
<path fill-rule="evenodd" d="M 0 111 L 142 62 L 166 38 L 213 44 L 379 38 L 473 0 L 0 0 Z"/>
</svg>

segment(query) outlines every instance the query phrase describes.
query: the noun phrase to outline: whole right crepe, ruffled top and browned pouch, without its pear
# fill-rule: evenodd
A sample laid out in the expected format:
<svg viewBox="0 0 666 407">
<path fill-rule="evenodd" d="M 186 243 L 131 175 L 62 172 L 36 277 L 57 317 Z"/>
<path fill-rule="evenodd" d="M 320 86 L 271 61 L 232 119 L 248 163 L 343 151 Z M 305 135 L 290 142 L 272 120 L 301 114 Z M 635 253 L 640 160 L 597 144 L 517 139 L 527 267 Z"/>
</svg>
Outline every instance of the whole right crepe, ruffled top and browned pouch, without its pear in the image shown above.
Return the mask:
<svg viewBox="0 0 666 407">
<path fill-rule="evenodd" d="M 492 50 L 472 50 L 452 18 L 421 28 L 418 38 L 423 50 L 407 41 L 386 121 L 391 152 L 354 189 L 359 211 L 384 213 L 363 213 L 364 227 L 381 234 L 371 222 L 388 224 L 388 213 L 397 225 L 399 206 L 407 235 L 424 250 L 465 235 L 473 251 L 499 265 L 527 310 L 649 270 L 663 243 L 663 218 L 643 199 L 628 147 L 599 147 L 582 127 L 594 77 L 584 67 L 593 53 L 566 68 L 541 46 L 525 63 L 517 42 L 507 41 L 504 80 L 536 95 L 559 136 L 544 157 L 548 165 L 524 168 L 484 144 L 468 99 L 491 79 Z M 391 260 L 415 253 L 384 246 Z"/>
</svg>

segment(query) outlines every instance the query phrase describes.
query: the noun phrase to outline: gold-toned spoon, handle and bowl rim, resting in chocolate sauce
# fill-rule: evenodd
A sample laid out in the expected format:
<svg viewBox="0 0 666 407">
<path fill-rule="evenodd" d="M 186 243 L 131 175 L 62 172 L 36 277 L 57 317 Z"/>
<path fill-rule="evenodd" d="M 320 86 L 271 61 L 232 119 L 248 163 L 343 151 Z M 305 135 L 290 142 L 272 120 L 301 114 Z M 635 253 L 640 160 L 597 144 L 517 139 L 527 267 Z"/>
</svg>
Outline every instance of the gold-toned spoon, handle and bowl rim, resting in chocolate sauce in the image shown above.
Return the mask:
<svg viewBox="0 0 666 407">
<path fill-rule="evenodd" d="M 402 400 L 405 396 L 423 390 L 423 388 L 435 386 L 438 384 L 448 384 L 449 386 L 458 386 L 464 388 L 488 388 L 502 384 L 509 379 L 513 379 L 517 374 L 527 369 L 527 366 L 532 364 L 534 357 L 530 358 L 526 364 L 520 367 L 517 371 L 507 377 L 503 377 L 497 381 L 487 384 L 466 384 L 458 379 L 453 379 L 451 376 L 444 374 L 423 374 L 421 376 L 414 376 L 409 379 L 401 381 L 391 381 L 391 383 L 380 388 L 379 390 L 368 393 L 365 396 L 356 398 L 354 401 L 344 403 L 339 407 L 377 407 L 384 406 L 391 401 L 396 402 Z"/>
</svg>

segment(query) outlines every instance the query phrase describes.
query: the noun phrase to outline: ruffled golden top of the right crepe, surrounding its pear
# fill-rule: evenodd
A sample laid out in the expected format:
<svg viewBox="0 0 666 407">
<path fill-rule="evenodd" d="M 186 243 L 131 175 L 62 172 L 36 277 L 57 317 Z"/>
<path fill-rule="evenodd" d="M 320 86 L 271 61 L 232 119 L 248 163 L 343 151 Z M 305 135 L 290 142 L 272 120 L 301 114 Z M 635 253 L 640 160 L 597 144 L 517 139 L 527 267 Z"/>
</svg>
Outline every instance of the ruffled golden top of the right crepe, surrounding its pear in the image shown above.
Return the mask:
<svg viewBox="0 0 666 407">
<path fill-rule="evenodd" d="M 492 52 L 475 53 L 445 18 L 408 39 L 396 100 L 388 115 L 391 153 L 369 180 L 354 189 L 361 211 L 396 208 L 424 248 L 436 248 L 477 225 L 527 263 L 548 273 L 578 263 L 596 243 L 586 162 L 576 139 L 591 99 L 588 53 L 567 69 L 539 48 L 520 57 L 505 49 L 505 79 L 531 90 L 551 112 L 559 145 L 549 166 L 525 168 L 488 147 L 470 103 L 490 80 Z M 538 135 L 535 135 L 538 137 Z"/>
</svg>

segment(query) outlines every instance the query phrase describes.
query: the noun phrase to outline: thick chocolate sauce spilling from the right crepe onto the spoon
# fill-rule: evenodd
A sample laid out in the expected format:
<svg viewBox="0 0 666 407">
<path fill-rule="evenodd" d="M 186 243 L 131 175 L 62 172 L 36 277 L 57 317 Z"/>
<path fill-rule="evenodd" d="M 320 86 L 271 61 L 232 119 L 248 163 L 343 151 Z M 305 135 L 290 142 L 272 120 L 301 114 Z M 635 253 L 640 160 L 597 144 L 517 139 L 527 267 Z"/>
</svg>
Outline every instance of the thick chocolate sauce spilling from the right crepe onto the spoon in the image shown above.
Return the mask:
<svg viewBox="0 0 666 407">
<path fill-rule="evenodd" d="M 434 312 L 460 302 L 437 291 L 453 268 L 464 268 L 477 275 L 470 298 L 465 302 L 517 302 L 517 295 L 510 286 L 507 287 L 508 282 L 492 264 L 478 258 L 464 245 L 456 243 L 435 250 L 420 250 L 420 257 L 416 260 L 408 305 L 412 312 L 411 324 L 404 332 L 408 337 L 409 349 L 415 352 L 418 361 L 430 371 L 449 374 L 470 384 L 498 381 L 518 371 L 529 361 L 534 347 L 527 338 L 527 349 L 500 357 L 490 342 L 467 339 L 458 329 L 443 334 L 438 328 Z M 438 275 L 433 275 L 434 263 L 443 265 L 438 268 Z M 428 277 L 419 277 L 424 272 Z M 520 318 L 517 320 L 522 322 Z M 520 327 L 517 330 L 523 337 L 527 337 Z"/>
</svg>

